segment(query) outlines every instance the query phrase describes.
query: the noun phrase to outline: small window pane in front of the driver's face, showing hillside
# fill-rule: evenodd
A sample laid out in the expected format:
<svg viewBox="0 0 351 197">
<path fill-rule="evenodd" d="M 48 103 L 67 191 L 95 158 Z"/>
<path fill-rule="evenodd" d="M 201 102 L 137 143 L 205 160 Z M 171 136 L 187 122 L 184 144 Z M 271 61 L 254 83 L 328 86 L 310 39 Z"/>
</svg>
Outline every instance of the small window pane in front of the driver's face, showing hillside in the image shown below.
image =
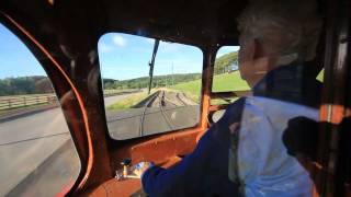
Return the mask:
<svg viewBox="0 0 351 197">
<path fill-rule="evenodd" d="M 238 71 L 239 46 L 220 47 L 216 55 L 212 92 L 250 90 Z"/>
</svg>

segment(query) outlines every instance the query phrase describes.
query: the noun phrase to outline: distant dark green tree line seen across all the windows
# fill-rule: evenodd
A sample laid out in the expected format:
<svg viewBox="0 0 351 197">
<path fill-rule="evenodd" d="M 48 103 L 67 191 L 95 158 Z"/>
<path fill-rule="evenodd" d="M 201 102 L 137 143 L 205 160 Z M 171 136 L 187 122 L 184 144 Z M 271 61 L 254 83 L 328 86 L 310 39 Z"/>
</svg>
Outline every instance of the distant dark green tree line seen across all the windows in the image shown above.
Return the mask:
<svg viewBox="0 0 351 197">
<path fill-rule="evenodd" d="M 214 74 L 230 72 L 236 69 L 238 53 L 228 53 L 215 61 Z M 201 73 L 177 73 L 167 76 L 155 76 L 152 88 L 170 86 L 201 79 Z M 131 80 L 104 79 L 104 89 L 145 89 L 149 85 L 149 77 L 141 77 Z M 19 78 L 0 79 L 0 96 L 21 94 L 43 94 L 53 93 L 53 86 L 47 77 L 32 76 Z"/>
</svg>

